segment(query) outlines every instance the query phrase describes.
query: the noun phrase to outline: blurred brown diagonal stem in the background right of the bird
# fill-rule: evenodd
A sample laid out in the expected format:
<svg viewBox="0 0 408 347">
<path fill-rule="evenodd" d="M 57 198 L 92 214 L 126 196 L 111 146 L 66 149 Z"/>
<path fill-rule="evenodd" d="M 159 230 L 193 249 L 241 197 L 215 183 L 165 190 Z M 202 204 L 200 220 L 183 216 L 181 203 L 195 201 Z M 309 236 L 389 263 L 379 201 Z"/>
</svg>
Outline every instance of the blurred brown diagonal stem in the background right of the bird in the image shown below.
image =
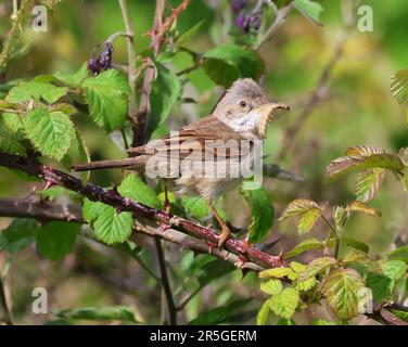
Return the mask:
<svg viewBox="0 0 408 347">
<path fill-rule="evenodd" d="M 326 64 L 326 66 L 323 67 L 322 72 L 320 74 L 320 77 L 319 77 L 319 80 L 317 82 L 315 90 L 310 93 L 305 107 L 303 108 L 303 111 L 298 115 L 295 123 L 291 127 L 289 127 L 283 134 L 281 150 L 278 154 L 278 158 L 280 160 L 282 160 L 285 157 L 285 155 L 288 154 L 288 152 L 291 147 L 291 144 L 293 143 L 297 132 L 301 130 L 302 126 L 305 124 L 305 121 L 311 115 L 311 113 L 314 112 L 317 104 L 326 98 L 327 90 L 328 90 L 328 83 L 329 83 L 331 74 L 332 74 L 333 68 L 336 65 L 336 63 L 343 56 L 344 47 L 345 47 L 345 43 L 347 42 L 349 33 L 353 28 L 353 24 L 354 24 L 353 17 L 349 15 L 349 13 L 346 14 L 344 29 L 340 35 L 340 38 L 339 38 L 336 46 L 334 47 L 331 59 Z"/>
</svg>

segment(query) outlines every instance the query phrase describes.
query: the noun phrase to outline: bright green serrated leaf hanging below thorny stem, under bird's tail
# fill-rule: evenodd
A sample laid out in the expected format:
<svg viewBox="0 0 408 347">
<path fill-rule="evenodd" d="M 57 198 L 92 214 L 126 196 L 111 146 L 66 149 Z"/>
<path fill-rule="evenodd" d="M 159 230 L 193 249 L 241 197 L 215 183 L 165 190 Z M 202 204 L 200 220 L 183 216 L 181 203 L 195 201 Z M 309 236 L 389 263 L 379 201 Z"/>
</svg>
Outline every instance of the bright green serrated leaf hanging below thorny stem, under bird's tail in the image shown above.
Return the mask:
<svg viewBox="0 0 408 347">
<path fill-rule="evenodd" d="M 100 207 L 98 207 L 100 208 Z M 93 222 L 94 234 L 98 240 L 106 244 L 123 243 L 131 234 L 133 218 L 130 213 L 117 214 L 109 205 L 104 205 L 101 214 Z"/>
</svg>

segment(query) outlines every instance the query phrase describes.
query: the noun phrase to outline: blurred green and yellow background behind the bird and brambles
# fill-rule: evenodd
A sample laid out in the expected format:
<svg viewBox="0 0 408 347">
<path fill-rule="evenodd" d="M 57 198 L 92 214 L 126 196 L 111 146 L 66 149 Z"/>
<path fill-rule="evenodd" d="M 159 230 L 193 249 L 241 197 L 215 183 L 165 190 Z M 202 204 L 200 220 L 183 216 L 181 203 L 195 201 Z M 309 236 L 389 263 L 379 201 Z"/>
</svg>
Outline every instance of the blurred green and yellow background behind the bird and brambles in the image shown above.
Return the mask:
<svg viewBox="0 0 408 347">
<path fill-rule="evenodd" d="M 179 1 L 169 1 L 174 7 Z M 366 0 L 373 9 L 372 33 L 360 33 L 354 26 L 344 46 L 344 54 L 331 72 L 326 97 L 314 107 L 307 120 L 294 138 L 283 158 L 278 158 L 285 130 L 293 125 L 310 93 L 316 89 L 322 69 L 333 54 L 343 28 L 340 0 L 320 1 L 323 7 L 318 26 L 293 11 L 273 40 L 265 44 L 260 55 L 267 74 L 264 88 L 273 100 L 292 106 L 291 112 L 270 126 L 265 154 L 267 160 L 302 176 L 304 182 L 284 182 L 265 179 L 270 192 L 276 215 L 296 197 L 317 202 L 328 201 L 331 205 L 347 204 L 353 200 L 355 176 L 324 184 L 327 165 L 352 145 L 369 144 L 397 152 L 408 145 L 408 133 L 404 110 L 390 91 L 390 77 L 408 66 L 408 2 L 406 0 Z M 0 33 L 9 28 L 12 1 L 0 2 Z M 154 1 L 131 1 L 131 16 L 136 33 L 136 49 L 148 48 L 149 31 L 154 14 Z M 177 28 L 183 33 L 205 18 L 199 34 L 187 46 L 205 52 L 216 44 L 231 40 L 229 31 L 234 26 L 227 1 L 192 0 L 179 16 Z M 28 23 L 27 23 L 28 24 Z M 75 72 L 90 56 L 92 49 L 103 42 L 112 33 L 124 30 L 124 23 L 117 1 L 69 0 L 59 3 L 49 13 L 49 31 L 35 33 L 27 25 L 22 34 L 22 44 L 29 44 L 29 53 L 13 63 L 5 80 L 29 78 L 41 74 Z M 114 62 L 126 63 L 125 39 L 115 41 Z M 182 70 L 192 65 L 189 54 L 180 53 L 171 62 L 171 68 Z M 167 121 L 168 129 L 187 124 L 206 115 L 216 103 L 221 90 L 201 69 L 184 76 L 183 97 L 193 98 L 196 104 L 178 103 Z M 123 157 L 124 153 L 112 137 L 97 128 L 89 119 L 76 119 L 93 159 Z M 115 171 L 91 175 L 91 181 L 109 185 L 120 180 Z M 4 168 L 0 168 L 0 197 L 25 196 L 39 183 L 27 183 Z M 385 253 L 393 247 L 399 235 L 407 240 L 407 196 L 400 182 L 391 175 L 371 205 L 382 213 L 382 218 L 355 216 L 345 231 L 346 235 L 370 245 L 372 254 Z M 228 219 L 235 227 L 250 222 L 250 209 L 238 192 L 229 193 L 222 202 Z M 0 229 L 11 219 L 0 218 Z M 313 235 L 322 237 L 326 227 L 319 224 Z M 291 222 L 276 222 L 269 241 L 279 242 L 269 252 L 288 250 L 302 237 Z M 141 256 L 156 270 L 155 252 L 151 243 L 141 240 Z M 168 261 L 171 277 L 183 279 L 175 282 L 176 293 L 193 291 L 195 275 L 191 270 L 193 254 L 181 253 L 176 246 L 168 246 Z M 2 255 L 0 255 L 2 257 Z M 311 259 L 313 254 L 301 257 Z M 161 293 L 155 281 L 143 272 L 136 261 L 100 244 L 79 240 L 75 252 L 60 262 L 41 259 L 34 248 L 13 257 L 9 280 L 15 320 L 18 323 L 42 323 L 51 314 L 31 313 L 31 291 L 43 286 L 49 291 L 50 310 L 82 306 L 129 305 L 141 321 L 160 322 Z M 180 295 L 181 295 L 180 294 Z M 182 320 L 190 321 L 209 307 L 226 305 L 231 298 L 253 300 L 247 306 L 244 322 L 253 323 L 250 314 L 260 307 L 263 295 L 258 292 L 255 274 L 242 279 L 241 271 L 232 271 L 205 287 L 187 306 Z M 252 308 L 252 310 L 250 309 Z M 244 313 L 244 311 L 239 311 Z M 327 317 L 316 307 L 306 316 Z M 304 314 L 304 316 L 305 316 Z M 322 317 L 322 314 L 326 314 Z M 301 322 L 303 317 L 297 318 Z M 241 320 L 242 321 L 242 320 Z"/>
</svg>

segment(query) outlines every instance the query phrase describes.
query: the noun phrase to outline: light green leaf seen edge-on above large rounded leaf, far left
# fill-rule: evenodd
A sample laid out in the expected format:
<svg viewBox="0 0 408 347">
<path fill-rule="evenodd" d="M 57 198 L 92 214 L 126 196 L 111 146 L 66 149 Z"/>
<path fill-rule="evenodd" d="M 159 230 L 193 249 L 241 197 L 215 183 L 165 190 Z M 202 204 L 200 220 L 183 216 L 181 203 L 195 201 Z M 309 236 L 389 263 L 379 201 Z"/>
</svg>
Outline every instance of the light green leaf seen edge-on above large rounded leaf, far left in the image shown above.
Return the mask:
<svg viewBox="0 0 408 347">
<path fill-rule="evenodd" d="M 12 88 L 5 98 L 11 103 L 29 102 L 31 100 L 41 102 L 41 99 L 52 104 L 61 97 L 65 95 L 67 88 L 55 87 L 51 83 L 28 81 L 20 82 L 18 86 Z"/>
</svg>

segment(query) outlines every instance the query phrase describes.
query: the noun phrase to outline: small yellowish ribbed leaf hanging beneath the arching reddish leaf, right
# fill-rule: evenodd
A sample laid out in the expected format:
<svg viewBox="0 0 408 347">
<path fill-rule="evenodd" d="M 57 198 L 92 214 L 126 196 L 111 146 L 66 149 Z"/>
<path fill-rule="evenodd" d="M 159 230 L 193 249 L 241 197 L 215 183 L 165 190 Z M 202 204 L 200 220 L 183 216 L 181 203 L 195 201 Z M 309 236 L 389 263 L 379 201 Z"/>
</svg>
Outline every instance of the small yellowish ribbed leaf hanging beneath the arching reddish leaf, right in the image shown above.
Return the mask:
<svg viewBox="0 0 408 347">
<path fill-rule="evenodd" d="M 355 195 L 357 200 L 366 203 L 372 200 L 384 181 L 385 169 L 366 169 L 358 174 Z"/>
</svg>

